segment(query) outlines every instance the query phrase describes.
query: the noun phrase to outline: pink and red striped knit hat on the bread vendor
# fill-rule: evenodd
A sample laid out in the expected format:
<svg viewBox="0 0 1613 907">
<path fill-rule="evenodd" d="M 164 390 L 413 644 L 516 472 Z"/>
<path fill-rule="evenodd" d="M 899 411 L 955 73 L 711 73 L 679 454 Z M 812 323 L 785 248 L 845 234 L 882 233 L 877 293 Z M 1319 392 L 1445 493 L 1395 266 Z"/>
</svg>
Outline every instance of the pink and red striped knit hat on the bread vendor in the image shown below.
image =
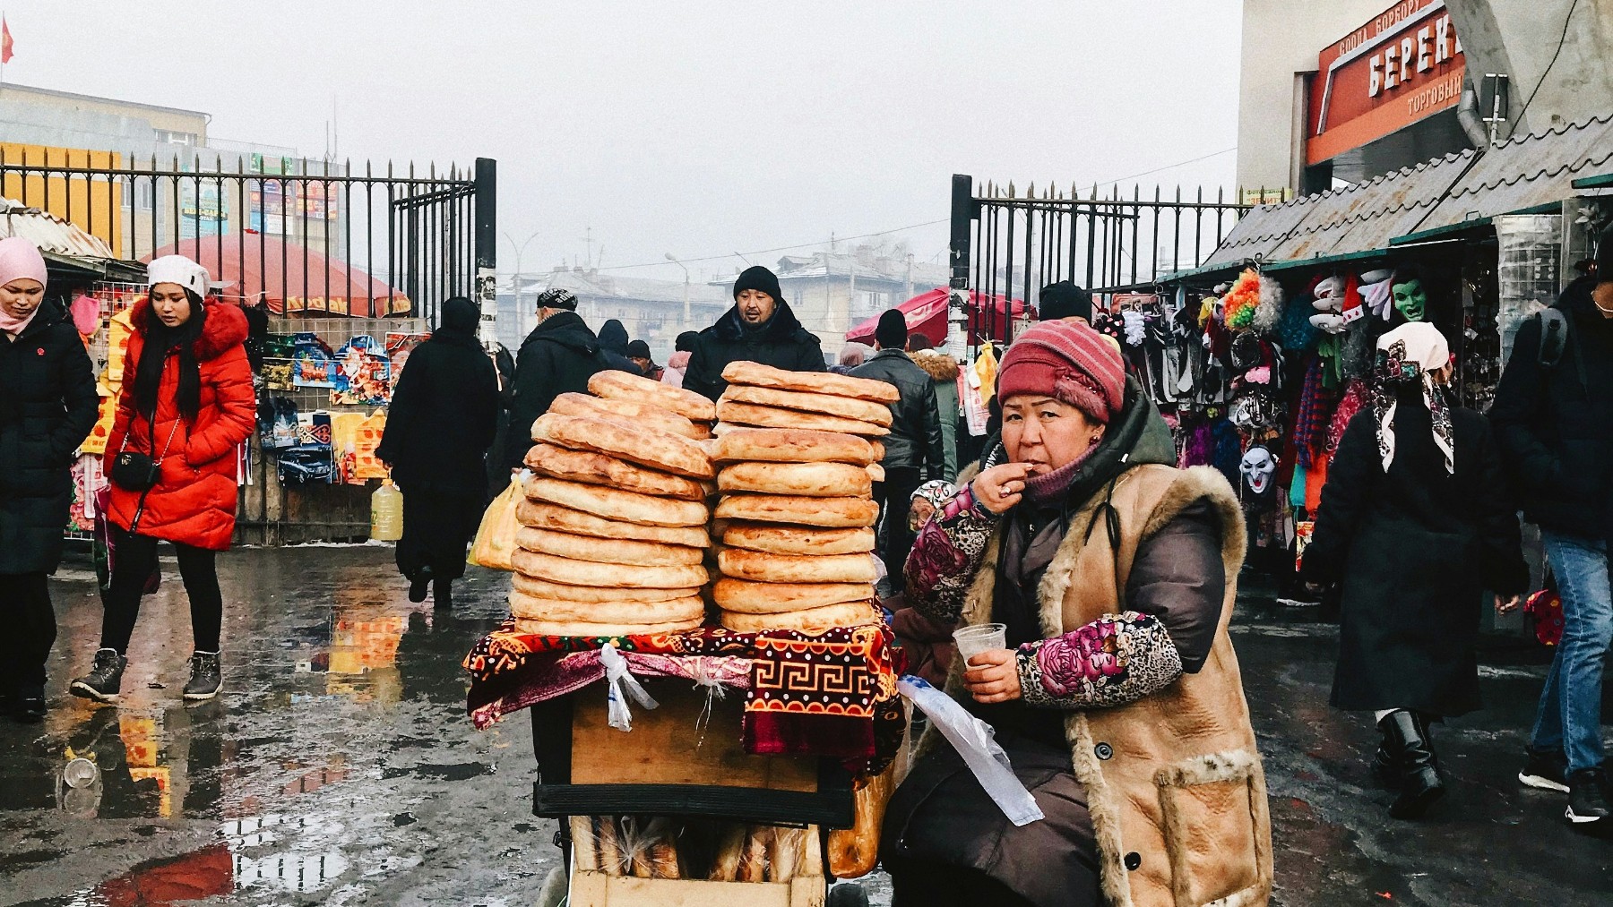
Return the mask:
<svg viewBox="0 0 1613 907">
<path fill-rule="evenodd" d="M 1082 322 L 1044 321 L 1008 346 L 997 396 L 1040 393 L 1108 424 L 1126 400 L 1126 362 L 1107 337 Z"/>
</svg>

